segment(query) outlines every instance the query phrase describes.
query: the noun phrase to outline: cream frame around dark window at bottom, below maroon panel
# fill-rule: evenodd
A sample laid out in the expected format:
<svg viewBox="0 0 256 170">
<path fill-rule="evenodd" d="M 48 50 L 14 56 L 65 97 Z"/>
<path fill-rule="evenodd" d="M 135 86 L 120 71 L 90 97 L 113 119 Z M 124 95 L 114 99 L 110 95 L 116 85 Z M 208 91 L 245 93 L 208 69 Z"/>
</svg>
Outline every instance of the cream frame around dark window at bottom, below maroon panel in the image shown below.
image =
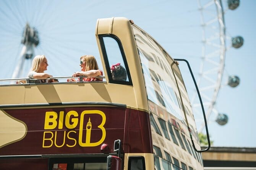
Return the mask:
<svg viewBox="0 0 256 170">
<path fill-rule="evenodd" d="M 129 156 L 143 156 L 145 158 L 146 170 L 153 170 L 154 169 L 154 154 L 129 153 L 129 154 L 125 154 L 124 170 L 128 170 Z"/>
</svg>

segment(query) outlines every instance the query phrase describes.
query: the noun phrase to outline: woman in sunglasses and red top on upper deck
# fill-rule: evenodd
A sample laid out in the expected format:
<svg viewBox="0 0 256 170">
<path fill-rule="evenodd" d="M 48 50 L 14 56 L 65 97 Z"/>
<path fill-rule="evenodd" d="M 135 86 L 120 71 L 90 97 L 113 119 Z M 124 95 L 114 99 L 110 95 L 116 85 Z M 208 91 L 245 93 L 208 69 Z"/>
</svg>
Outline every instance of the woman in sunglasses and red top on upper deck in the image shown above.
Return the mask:
<svg viewBox="0 0 256 170">
<path fill-rule="evenodd" d="M 72 76 L 79 77 L 80 75 L 87 76 L 83 78 L 83 81 L 102 81 L 101 78 L 94 78 L 103 75 L 103 72 L 99 70 L 96 58 L 92 55 L 84 55 L 80 57 L 81 71 L 75 72 Z M 70 81 L 76 81 L 70 79 Z"/>
</svg>

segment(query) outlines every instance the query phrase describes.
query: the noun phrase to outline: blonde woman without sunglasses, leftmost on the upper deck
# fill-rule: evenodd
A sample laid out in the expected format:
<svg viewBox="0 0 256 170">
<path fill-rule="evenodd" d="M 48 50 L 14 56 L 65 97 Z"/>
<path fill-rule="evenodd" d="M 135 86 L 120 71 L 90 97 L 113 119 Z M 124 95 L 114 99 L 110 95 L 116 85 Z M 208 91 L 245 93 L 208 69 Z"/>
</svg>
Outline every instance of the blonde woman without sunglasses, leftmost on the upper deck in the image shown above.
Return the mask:
<svg viewBox="0 0 256 170">
<path fill-rule="evenodd" d="M 32 61 L 32 66 L 31 66 L 31 70 L 28 74 L 29 78 L 33 78 L 33 79 L 39 79 L 39 80 L 34 80 L 34 81 L 30 81 L 31 83 L 47 83 L 47 79 L 49 77 L 52 77 L 52 75 L 45 73 L 44 71 L 47 70 L 48 67 L 48 63 L 47 63 L 47 59 L 45 57 L 45 55 L 37 55 L 34 57 L 33 61 Z M 53 81 L 50 81 L 53 82 Z"/>
</svg>

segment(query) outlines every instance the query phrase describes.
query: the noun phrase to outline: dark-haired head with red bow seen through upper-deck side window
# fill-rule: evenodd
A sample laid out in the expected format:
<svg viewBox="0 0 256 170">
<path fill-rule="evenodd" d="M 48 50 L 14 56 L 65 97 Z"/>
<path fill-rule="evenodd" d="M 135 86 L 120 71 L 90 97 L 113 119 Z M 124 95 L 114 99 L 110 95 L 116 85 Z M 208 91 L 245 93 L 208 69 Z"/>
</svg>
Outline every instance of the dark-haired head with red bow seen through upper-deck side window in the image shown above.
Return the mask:
<svg viewBox="0 0 256 170">
<path fill-rule="evenodd" d="M 123 66 L 121 66 L 120 63 L 110 66 L 110 70 L 113 80 L 126 81 L 126 69 Z"/>
</svg>

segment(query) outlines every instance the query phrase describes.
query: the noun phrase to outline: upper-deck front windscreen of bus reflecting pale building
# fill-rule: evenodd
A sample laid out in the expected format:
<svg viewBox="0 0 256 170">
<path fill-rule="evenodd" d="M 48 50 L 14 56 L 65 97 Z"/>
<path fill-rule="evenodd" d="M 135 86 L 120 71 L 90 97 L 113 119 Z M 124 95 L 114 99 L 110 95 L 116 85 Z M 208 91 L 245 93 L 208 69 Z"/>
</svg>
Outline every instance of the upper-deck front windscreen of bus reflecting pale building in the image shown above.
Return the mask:
<svg viewBox="0 0 256 170">
<path fill-rule="evenodd" d="M 170 65 L 173 60 L 149 35 L 134 25 L 132 29 L 143 70 L 147 98 L 183 121 L 184 114 L 175 95 L 179 92 Z"/>
</svg>

